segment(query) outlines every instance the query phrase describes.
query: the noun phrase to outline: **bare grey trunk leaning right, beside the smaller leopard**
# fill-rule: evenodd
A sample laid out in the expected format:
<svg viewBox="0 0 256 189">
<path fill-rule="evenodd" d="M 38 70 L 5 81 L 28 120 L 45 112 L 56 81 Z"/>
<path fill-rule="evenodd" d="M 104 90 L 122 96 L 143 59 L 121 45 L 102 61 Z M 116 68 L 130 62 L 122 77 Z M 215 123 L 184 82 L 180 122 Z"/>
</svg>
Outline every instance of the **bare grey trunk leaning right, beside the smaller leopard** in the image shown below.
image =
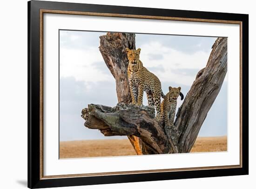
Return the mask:
<svg viewBox="0 0 256 189">
<path fill-rule="evenodd" d="M 179 152 L 189 152 L 227 73 L 227 38 L 217 38 L 208 63 L 201 69 L 180 107 L 171 137 Z"/>
</svg>

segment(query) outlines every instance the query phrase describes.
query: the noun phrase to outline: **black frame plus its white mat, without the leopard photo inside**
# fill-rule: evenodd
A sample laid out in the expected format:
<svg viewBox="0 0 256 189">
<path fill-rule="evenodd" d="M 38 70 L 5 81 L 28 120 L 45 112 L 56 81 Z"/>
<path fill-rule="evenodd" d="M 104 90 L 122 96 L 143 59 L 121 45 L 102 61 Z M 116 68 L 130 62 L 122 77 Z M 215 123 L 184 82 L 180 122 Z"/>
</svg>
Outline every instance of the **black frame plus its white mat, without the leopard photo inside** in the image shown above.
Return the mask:
<svg viewBox="0 0 256 189">
<path fill-rule="evenodd" d="M 228 37 L 228 151 L 59 159 L 60 29 Z M 248 174 L 248 41 L 243 14 L 29 1 L 28 187 Z"/>
</svg>

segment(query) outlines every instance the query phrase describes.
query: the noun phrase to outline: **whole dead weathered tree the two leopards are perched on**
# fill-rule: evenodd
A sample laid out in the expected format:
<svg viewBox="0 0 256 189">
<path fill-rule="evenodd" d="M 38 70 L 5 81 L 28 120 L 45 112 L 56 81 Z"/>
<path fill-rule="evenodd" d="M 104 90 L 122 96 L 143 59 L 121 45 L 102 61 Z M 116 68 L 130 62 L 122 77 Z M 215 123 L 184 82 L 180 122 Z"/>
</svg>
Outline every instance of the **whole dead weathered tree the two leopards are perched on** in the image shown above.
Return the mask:
<svg viewBox="0 0 256 189">
<path fill-rule="evenodd" d="M 175 127 L 165 129 L 147 106 L 130 104 L 128 59 L 125 48 L 135 49 L 135 35 L 108 33 L 100 37 L 100 51 L 115 77 L 116 107 L 88 105 L 82 110 L 85 126 L 104 136 L 128 136 L 137 154 L 189 152 L 227 73 L 227 38 L 217 38 L 206 67 L 195 77 L 176 115 Z"/>
</svg>

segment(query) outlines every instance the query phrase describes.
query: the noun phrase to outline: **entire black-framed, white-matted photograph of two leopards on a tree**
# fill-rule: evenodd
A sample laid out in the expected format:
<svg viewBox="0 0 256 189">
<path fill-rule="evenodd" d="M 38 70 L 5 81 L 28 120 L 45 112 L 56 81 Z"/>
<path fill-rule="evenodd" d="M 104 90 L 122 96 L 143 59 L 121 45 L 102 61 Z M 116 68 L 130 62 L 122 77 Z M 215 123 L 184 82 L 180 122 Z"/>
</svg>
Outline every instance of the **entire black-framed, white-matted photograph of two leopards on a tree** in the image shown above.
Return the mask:
<svg viewBox="0 0 256 189">
<path fill-rule="evenodd" d="M 28 2 L 28 187 L 246 175 L 249 15 Z"/>
</svg>

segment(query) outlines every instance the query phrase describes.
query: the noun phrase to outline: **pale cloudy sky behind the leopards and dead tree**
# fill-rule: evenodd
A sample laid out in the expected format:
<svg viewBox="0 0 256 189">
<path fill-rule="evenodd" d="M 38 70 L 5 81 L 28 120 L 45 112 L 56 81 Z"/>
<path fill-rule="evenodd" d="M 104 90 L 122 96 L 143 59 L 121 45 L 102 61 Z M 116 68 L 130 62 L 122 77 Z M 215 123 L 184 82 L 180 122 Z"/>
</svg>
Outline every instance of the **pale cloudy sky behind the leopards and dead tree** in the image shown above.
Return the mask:
<svg viewBox="0 0 256 189">
<path fill-rule="evenodd" d="M 122 139 L 104 137 L 86 128 L 81 110 L 88 104 L 115 106 L 115 79 L 99 51 L 99 36 L 106 32 L 60 31 L 60 140 Z M 197 72 L 204 68 L 216 38 L 136 34 L 143 65 L 162 83 L 181 87 L 186 96 Z M 143 104 L 147 105 L 144 92 Z M 182 104 L 178 100 L 177 108 Z M 199 136 L 227 135 L 227 78 L 211 107 Z"/>
</svg>

